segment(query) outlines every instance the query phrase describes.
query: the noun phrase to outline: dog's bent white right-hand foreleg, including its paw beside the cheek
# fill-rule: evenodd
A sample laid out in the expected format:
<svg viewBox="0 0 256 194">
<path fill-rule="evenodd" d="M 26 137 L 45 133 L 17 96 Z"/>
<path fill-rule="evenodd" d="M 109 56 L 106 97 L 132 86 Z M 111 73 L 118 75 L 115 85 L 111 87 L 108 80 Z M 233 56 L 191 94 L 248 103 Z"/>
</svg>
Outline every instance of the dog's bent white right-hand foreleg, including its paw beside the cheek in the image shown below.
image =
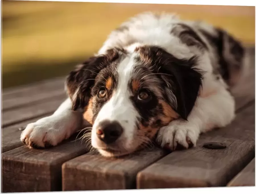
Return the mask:
<svg viewBox="0 0 256 194">
<path fill-rule="evenodd" d="M 224 127 L 234 117 L 234 98 L 225 88 L 220 88 L 209 96 L 199 96 L 187 121 L 175 120 L 160 128 L 157 141 L 171 150 L 175 150 L 178 144 L 184 148 L 195 146 L 200 133 Z"/>
</svg>

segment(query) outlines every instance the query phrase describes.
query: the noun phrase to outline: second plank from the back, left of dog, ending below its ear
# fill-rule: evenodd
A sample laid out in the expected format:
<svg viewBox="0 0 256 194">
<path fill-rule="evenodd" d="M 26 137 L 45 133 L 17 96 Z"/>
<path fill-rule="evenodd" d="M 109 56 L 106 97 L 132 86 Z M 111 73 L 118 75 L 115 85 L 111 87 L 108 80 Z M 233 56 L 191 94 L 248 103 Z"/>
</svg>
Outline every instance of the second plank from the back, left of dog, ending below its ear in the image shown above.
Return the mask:
<svg viewBox="0 0 256 194">
<path fill-rule="evenodd" d="M 17 108 L 15 110 L 7 110 L 2 115 L 2 127 L 7 127 L 28 119 L 44 116 L 49 113 L 55 112 L 60 104 L 67 98 L 66 94 L 58 98 L 50 99 L 47 102 L 38 104 L 27 104 L 27 106 Z"/>
</svg>

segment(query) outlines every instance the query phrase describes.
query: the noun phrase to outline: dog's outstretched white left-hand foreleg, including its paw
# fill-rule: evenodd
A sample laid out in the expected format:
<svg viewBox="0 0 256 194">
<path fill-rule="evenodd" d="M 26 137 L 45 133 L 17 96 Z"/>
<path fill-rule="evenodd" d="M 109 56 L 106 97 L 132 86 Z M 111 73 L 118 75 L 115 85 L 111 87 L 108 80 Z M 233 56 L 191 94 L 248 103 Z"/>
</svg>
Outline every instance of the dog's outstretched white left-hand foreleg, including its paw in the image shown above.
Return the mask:
<svg viewBox="0 0 256 194">
<path fill-rule="evenodd" d="M 20 140 L 30 148 L 56 146 L 82 127 L 82 112 L 71 110 L 70 98 L 65 100 L 53 115 L 27 125 Z"/>
</svg>

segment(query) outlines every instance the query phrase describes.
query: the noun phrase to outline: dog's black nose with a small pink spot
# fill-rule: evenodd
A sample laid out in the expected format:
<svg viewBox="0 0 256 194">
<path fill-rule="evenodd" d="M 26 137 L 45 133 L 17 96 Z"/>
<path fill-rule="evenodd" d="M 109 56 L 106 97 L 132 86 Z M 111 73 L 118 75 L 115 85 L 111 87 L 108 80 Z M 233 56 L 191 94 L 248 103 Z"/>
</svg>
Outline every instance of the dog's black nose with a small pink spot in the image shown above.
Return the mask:
<svg viewBox="0 0 256 194">
<path fill-rule="evenodd" d="M 98 138 L 106 144 L 113 143 L 123 133 L 123 127 L 117 121 L 103 121 L 97 129 Z"/>
</svg>

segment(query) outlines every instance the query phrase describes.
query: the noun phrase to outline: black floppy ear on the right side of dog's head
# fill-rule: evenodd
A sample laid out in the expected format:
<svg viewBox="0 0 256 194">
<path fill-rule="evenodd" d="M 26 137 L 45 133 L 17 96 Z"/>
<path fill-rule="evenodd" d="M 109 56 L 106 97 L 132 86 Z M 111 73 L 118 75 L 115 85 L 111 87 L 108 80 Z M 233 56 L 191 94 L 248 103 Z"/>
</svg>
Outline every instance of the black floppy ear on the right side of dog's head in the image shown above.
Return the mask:
<svg viewBox="0 0 256 194">
<path fill-rule="evenodd" d="M 197 100 L 202 85 L 203 72 L 195 68 L 197 58 L 177 59 L 158 49 L 158 73 L 165 82 L 165 96 L 169 104 L 183 119 L 187 119 Z M 175 102 L 174 102 L 175 100 Z"/>
</svg>

